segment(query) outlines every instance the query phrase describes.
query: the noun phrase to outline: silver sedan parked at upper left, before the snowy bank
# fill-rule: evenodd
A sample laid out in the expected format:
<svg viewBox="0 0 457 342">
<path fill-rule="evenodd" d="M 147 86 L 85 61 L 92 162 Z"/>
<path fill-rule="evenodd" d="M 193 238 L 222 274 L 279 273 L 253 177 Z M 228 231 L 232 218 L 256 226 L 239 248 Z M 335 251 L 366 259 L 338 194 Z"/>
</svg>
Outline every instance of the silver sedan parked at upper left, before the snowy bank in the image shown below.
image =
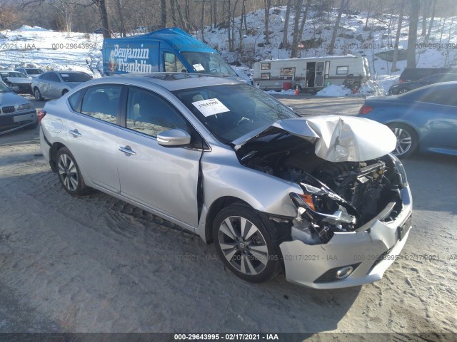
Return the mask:
<svg viewBox="0 0 457 342">
<path fill-rule="evenodd" d="M 36 100 L 41 101 L 45 98 L 60 98 L 70 89 L 91 79 L 92 76 L 81 71 L 48 71 L 34 78 L 31 88 Z"/>
</svg>

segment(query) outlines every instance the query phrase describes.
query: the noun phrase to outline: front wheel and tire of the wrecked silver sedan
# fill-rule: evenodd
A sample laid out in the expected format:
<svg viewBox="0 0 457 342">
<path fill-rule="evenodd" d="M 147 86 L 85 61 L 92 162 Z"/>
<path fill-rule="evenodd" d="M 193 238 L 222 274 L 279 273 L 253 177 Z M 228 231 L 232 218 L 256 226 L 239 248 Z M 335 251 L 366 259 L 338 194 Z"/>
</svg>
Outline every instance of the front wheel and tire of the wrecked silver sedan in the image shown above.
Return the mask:
<svg viewBox="0 0 457 342">
<path fill-rule="evenodd" d="M 280 265 L 271 224 L 243 204 L 231 204 L 216 215 L 213 240 L 217 252 L 241 279 L 260 283 L 278 274 Z"/>
</svg>

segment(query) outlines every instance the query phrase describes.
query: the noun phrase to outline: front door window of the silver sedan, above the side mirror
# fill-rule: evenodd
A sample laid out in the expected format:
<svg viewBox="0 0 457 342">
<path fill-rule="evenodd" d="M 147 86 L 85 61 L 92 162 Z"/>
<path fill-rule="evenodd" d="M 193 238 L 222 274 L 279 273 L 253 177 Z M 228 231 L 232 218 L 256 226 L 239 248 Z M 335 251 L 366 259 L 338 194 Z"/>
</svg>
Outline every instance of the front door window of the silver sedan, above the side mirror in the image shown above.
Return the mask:
<svg viewBox="0 0 457 342">
<path fill-rule="evenodd" d="M 129 89 L 126 127 L 152 137 L 173 128 L 189 131 L 186 120 L 171 103 L 139 88 Z"/>
</svg>

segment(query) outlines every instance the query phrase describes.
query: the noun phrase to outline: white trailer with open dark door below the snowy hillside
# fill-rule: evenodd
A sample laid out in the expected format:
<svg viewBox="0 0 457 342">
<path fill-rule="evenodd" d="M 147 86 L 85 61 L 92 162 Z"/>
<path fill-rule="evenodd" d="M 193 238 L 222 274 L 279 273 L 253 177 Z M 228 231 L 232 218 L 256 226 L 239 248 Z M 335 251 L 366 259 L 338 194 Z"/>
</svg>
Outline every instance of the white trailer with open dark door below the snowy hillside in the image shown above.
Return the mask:
<svg viewBox="0 0 457 342">
<path fill-rule="evenodd" d="M 254 63 L 253 85 L 316 92 L 328 84 L 358 88 L 369 78 L 368 60 L 362 56 L 273 59 Z"/>
</svg>

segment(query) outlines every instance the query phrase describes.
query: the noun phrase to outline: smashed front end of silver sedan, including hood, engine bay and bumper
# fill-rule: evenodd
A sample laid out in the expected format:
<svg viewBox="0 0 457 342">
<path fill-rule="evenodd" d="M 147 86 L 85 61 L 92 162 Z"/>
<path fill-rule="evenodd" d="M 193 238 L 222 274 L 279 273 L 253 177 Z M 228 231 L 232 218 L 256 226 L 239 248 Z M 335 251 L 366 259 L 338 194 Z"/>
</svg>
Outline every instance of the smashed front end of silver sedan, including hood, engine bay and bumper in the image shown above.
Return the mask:
<svg viewBox="0 0 457 342">
<path fill-rule="evenodd" d="M 243 165 L 303 190 L 290 194 L 297 215 L 280 244 L 289 281 L 329 289 L 379 280 L 406 241 L 412 200 L 388 154 L 395 137 L 356 119 L 306 120 L 307 136 L 276 125 L 238 145 Z"/>
</svg>

